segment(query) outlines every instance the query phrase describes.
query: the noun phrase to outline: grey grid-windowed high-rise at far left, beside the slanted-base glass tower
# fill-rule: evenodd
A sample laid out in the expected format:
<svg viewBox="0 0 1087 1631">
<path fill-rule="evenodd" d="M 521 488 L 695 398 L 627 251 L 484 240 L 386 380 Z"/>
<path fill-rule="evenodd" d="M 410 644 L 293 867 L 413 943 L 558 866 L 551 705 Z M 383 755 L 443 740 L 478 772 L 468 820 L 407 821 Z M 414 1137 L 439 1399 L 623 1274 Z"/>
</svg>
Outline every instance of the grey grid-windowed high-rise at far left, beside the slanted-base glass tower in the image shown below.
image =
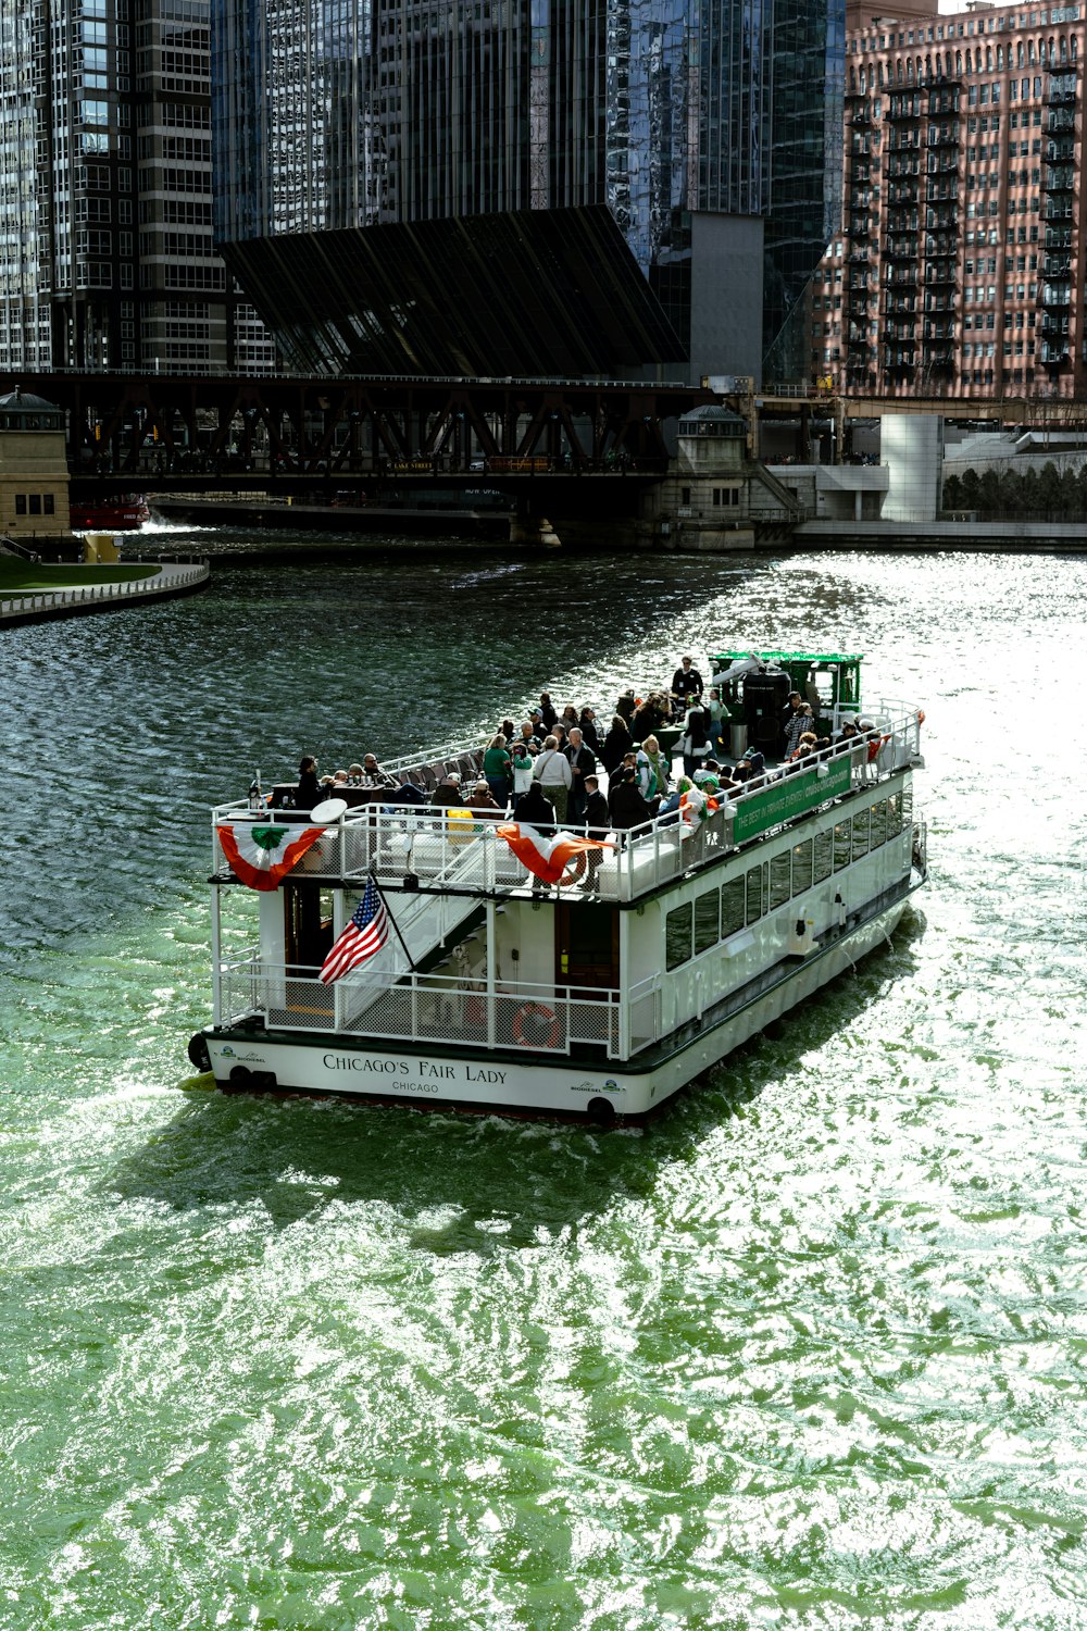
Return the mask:
<svg viewBox="0 0 1087 1631">
<path fill-rule="evenodd" d="M 0 0 L 0 369 L 262 369 L 212 245 L 209 0 Z"/>
</svg>

